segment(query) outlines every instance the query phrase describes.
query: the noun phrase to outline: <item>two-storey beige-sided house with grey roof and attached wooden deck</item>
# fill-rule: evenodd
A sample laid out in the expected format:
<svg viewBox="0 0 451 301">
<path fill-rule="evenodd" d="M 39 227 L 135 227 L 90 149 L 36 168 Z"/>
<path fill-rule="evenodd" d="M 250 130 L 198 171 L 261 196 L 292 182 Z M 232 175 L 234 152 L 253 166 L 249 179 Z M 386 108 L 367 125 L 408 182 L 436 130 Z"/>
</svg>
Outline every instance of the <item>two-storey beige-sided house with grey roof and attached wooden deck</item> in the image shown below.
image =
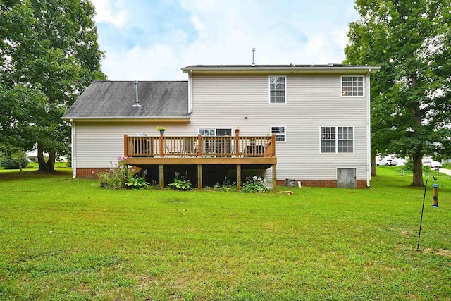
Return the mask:
<svg viewBox="0 0 451 301">
<path fill-rule="evenodd" d="M 187 81 L 92 82 L 63 116 L 74 177 L 126 155 L 160 183 L 188 171 L 199 187 L 257 173 L 274 187 L 369 187 L 369 77 L 378 69 L 187 66 Z"/>
</svg>

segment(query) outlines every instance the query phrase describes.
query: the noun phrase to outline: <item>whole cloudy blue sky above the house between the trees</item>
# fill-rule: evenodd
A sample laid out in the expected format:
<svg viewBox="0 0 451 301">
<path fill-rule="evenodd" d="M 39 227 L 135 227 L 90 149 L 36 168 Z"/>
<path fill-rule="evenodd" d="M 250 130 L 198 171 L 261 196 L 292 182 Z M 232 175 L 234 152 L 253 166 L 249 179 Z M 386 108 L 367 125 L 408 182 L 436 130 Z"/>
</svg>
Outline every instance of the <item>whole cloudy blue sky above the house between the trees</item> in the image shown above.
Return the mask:
<svg viewBox="0 0 451 301">
<path fill-rule="evenodd" d="M 341 63 L 353 0 L 92 0 L 109 80 L 186 80 L 200 64 Z"/>
</svg>

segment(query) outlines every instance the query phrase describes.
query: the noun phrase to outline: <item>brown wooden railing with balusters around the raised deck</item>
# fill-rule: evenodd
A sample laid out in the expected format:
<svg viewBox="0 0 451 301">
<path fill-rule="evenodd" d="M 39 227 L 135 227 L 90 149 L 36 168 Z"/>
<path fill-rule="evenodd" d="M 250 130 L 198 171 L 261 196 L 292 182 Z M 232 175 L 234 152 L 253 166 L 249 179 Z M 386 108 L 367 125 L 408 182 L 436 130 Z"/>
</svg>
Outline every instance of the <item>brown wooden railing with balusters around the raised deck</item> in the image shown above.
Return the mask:
<svg viewBox="0 0 451 301">
<path fill-rule="evenodd" d="M 159 137 L 124 135 L 127 157 L 245 157 L 276 156 L 276 135 Z"/>
</svg>

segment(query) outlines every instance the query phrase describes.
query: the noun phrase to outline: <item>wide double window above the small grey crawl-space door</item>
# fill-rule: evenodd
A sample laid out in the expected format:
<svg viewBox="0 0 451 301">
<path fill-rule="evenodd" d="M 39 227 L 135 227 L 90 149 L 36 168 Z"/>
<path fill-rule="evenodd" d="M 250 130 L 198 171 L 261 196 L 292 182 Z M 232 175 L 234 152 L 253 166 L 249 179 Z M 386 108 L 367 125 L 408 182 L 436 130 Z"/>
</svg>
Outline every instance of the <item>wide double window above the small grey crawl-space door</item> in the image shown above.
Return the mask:
<svg viewBox="0 0 451 301">
<path fill-rule="evenodd" d="M 321 127 L 321 153 L 353 153 L 354 128 L 352 126 Z"/>
</svg>

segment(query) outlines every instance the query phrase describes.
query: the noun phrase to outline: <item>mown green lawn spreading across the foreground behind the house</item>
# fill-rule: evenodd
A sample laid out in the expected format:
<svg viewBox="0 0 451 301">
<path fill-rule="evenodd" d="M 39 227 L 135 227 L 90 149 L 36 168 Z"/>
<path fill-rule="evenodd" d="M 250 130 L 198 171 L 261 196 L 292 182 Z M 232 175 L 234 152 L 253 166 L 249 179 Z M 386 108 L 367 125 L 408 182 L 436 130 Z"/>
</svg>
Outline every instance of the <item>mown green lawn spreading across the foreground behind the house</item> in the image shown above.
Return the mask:
<svg viewBox="0 0 451 301">
<path fill-rule="evenodd" d="M 449 300 L 450 177 L 416 252 L 424 189 L 378 173 L 294 195 L 0 173 L 0 300 Z"/>
</svg>

